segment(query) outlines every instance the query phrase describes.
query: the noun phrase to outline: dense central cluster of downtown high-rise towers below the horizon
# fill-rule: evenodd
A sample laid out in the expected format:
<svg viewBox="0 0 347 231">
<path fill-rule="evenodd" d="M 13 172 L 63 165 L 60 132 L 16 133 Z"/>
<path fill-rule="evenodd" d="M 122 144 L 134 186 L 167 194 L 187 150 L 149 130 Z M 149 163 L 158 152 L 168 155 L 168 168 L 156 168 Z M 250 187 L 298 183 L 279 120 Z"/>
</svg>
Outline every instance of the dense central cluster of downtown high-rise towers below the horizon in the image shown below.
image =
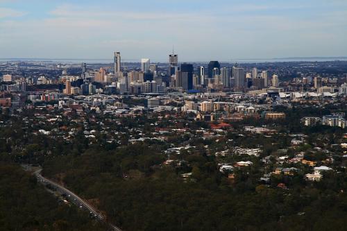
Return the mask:
<svg viewBox="0 0 347 231">
<path fill-rule="evenodd" d="M 115 52 L 113 67 L 88 70 L 86 63 L 83 63 L 81 69 L 81 76 L 62 76 L 65 94 L 245 92 L 280 86 L 278 75 L 270 77 L 267 70 L 258 71 L 255 67 L 247 72 L 237 64 L 221 67 L 218 61 L 211 61 L 207 66 L 179 64 L 178 55 L 174 53 L 169 55 L 169 66 L 165 67 L 151 64 L 149 58 L 142 58 L 140 68 L 126 69 L 121 66 L 121 54 Z M 76 86 L 71 87 L 71 82 L 76 82 Z M 92 89 L 92 83 L 101 83 L 102 87 Z"/>
</svg>

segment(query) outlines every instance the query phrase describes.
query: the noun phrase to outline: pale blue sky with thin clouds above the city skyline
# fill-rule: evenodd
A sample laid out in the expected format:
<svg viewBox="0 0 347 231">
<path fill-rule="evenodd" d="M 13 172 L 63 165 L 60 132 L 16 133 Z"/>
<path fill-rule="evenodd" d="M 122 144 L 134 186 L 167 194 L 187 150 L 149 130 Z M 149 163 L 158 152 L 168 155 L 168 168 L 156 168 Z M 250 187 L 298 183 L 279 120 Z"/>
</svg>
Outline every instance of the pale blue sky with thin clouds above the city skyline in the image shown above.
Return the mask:
<svg viewBox="0 0 347 231">
<path fill-rule="evenodd" d="M 0 0 L 0 58 L 347 56 L 347 0 Z"/>
</svg>

